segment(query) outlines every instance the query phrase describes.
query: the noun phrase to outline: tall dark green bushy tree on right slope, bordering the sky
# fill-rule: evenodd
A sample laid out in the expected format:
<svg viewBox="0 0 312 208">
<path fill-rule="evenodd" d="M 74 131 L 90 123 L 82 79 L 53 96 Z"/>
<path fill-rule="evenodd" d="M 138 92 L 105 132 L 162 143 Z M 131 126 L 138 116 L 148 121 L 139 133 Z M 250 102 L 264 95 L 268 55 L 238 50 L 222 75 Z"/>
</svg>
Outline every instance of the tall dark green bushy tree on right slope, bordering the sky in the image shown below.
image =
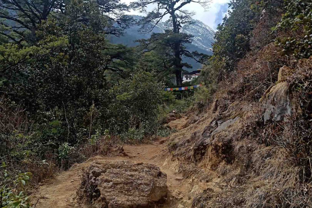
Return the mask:
<svg viewBox="0 0 312 208">
<path fill-rule="evenodd" d="M 237 61 L 250 51 L 249 40 L 255 27 L 252 20 L 259 17 L 251 4 L 249 0 L 231 0 L 229 16 L 224 17 L 223 23 L 217 27 L 212 65 L 222 75 L 234 70 Z"/>
</svg>

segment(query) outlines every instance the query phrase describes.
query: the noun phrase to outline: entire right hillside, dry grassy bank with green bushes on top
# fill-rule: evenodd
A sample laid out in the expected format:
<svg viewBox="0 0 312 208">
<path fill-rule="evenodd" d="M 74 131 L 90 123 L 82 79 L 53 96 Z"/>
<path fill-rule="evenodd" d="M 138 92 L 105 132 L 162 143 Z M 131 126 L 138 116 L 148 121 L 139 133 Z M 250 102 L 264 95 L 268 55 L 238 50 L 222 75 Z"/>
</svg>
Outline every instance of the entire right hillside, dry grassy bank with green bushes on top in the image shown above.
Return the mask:
<svg viewBox="0 0 312 208">
<path fill-rule="evenodd" d="M 170 151 L 194 186 L 222 190 L 202 190 L 193 207 L 311 207 L 312 3 L 230 7 L 202 73 L 208 110 L 189 116 Z"/>
</svg>

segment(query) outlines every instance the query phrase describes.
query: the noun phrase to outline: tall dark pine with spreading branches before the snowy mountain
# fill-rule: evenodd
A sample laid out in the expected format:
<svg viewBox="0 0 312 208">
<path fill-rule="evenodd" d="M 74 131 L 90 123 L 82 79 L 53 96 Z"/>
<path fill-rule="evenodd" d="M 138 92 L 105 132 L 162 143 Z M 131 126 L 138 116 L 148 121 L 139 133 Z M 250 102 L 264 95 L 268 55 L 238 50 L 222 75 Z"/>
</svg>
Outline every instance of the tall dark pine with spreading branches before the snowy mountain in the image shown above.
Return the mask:
<svg viewBox="0 0 312 208">
<path fill-rule="evenodd" d="M 168 66 L 172 72 L 176 75 L 177 85 L 182 85 L 182 70 L 183 67 L 188 67 L 187 63 L 182 62 L 183 56 L 191 56 L 196 59 L 189 51 L 184 47 L 184 44 L 189 42 L 189 37 L 186 34 L 181 33 L 181 28 L 185 25 L 192 24 L 192 16 L 194 12 L 184 10 L 190 3 L 198 3 L 202 7 L 207 8 L 210 0 L 138 0 L 131 3 L 131 7 L 141 12 L 147 12 L 146 7 L 156 4 L 157 6 L 153 11 L 148 12 L 147 16 L 139 21 L 141 30 L 150 32 L 157 26 L 159 22 L 167 15 L 170 18 L 167 21 L 168 26 L 172 29 L 166 31 L 167 37 L 165 39 L 170 40 L 170 44 L 166 44 L 167 49 L 171 50 L 171 57 Z M 157 40 L 163 39 L 163 37 L 157 38 Z M 198 55 L 198 53 L 195 53 Z"/>
</svg>

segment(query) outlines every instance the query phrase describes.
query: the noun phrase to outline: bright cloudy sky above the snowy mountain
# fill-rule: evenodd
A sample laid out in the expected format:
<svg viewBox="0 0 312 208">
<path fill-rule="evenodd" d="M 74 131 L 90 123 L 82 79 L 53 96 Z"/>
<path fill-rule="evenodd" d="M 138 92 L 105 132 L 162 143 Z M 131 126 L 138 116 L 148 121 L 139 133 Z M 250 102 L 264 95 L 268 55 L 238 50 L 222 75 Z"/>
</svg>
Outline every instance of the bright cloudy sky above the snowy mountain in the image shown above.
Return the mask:
<svg viewBox="0 0 312 208">
<path fill-rule="evenodd" d="M 121 1 L 129 4 L 134 0 Z M 196 3 L 190 3 L 187 6 L 187 9 L 189 11 L 196 12 L 196 15 L 193 17 L 194 19 L 200 20 L 212 29 L 216 30 L 217 25 L 222 22 L 224 15 L 227 13 L 227 2 L 229 2 L 229 0 L 212 0 L 210 8 L 208 8 L 207 11 L 205 11 L 199 4 Z M 131 14 L 142 16 L 144 15 L 138 11 L 132 11 Z"/>
</svg>

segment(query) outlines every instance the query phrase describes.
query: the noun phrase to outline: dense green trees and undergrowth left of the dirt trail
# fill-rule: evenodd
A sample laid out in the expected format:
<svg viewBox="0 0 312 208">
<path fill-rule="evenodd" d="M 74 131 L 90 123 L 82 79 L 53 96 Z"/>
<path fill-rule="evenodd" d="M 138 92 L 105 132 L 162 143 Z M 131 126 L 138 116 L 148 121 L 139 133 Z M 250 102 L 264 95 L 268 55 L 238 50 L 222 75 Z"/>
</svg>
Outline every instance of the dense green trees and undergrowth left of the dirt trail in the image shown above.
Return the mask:
<svg viewBox="0 0 312 208">
<path fill-rule="evenodd" d="M 132 48 L 108 41 L 138 24 L 125 14 L 134 7 L 119 0 L 0 1 L 0 207 L 31 206 L 26 186 L 105 154 L 113 143 L 168 135 L 167 114 L 190 105 L 188 93 L 177 92 L 177 100 L 163 89 L 176 71 L 181 79 L 191 36 L 154 34 L 157 41 Z M 177 31 L 182 22 L 175 21 Z M 173 46 L 183 50 L 178 60 Z"/>
</svg>

